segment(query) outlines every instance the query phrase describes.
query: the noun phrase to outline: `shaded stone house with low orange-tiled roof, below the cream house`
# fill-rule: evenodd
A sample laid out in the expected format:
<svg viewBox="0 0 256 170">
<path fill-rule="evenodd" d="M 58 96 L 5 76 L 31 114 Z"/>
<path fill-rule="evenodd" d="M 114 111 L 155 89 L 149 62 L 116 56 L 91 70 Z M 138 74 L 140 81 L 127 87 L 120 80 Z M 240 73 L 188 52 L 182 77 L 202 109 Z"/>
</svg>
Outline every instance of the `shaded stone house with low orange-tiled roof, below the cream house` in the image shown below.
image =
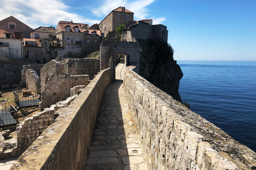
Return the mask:
<svg viewBox="0 0 256 170">
<path fill-rule="evenodd" d="M 30 63 L 45 64 L 55 59 L 62 46 L 58 39 L 23 39 L 23 56 L 30 59 Z"/>
</svg>

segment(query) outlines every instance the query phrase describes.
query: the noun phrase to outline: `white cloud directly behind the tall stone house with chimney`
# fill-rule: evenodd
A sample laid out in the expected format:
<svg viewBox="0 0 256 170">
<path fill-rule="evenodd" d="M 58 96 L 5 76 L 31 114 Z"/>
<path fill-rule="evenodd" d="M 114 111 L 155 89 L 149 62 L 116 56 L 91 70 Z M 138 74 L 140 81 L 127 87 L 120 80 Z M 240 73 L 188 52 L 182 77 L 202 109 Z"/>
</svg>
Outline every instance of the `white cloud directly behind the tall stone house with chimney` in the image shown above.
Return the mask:
<svg viewBox="0 0 256 170">
<path fill-rule="evenodd" d="M 146 8 L 148 5 L 154 3 L 156 0 L 135 0 L 135 1 L 127 1 L 127 0 L 106 0 L 102 1 L 102 5 L 96 8 L 93 8 L 91 11 L 96 16 L 106 16 L 113 9 L 118 7 L 125 7 L 129 11 L 134 13 L 135 20 L 148 19 L 149 10 Z"/>
</svg>

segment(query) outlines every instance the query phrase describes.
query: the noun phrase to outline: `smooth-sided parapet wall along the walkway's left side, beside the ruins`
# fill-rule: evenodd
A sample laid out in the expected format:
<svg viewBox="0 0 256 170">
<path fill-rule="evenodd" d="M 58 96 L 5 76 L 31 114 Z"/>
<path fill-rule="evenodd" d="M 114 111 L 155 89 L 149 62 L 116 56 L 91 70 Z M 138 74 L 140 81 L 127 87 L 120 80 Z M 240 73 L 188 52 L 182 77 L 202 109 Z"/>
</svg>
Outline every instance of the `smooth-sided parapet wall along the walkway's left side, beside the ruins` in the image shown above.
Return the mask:
<svg viewBox="0 0 256 170">
<path fill-rule="evenodd" d="M 12 165 L 12 170 L 81 170 L 86 162 L 94 125 L 111 69 L 102 70 L 78 97 L 59 114 L 34 143 Z"/>
</svg>

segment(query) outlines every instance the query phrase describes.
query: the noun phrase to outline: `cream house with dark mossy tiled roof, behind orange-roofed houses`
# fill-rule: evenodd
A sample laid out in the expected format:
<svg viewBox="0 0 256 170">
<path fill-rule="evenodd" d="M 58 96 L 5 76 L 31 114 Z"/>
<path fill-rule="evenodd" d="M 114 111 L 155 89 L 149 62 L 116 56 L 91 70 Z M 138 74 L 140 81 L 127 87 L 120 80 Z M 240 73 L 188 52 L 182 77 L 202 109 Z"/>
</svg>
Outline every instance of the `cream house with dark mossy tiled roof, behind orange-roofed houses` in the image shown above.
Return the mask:
<svg viewBox="0 0 256 170">
<path fill-rule="evenodd" d="M 56 39 L 55 32 L 56 30 L 54 27 L 38 27 L 30 32 L 30 38 L 53 40 L 53 39 Z"/>
</svg>

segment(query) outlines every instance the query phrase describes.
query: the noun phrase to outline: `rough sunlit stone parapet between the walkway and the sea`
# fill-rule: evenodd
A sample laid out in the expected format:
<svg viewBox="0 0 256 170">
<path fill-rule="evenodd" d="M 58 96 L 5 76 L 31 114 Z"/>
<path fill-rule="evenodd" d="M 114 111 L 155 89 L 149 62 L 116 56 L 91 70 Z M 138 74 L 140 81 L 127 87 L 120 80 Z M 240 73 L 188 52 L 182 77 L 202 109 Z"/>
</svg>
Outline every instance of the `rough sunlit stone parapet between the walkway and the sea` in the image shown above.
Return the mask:
<svg viewBox="0 0 256 170">
<path fill-rule="evenodd" d="M 256 153 L 128 66 L 124 88 L 152 169 L 256 169 Z"/>
</svg>

